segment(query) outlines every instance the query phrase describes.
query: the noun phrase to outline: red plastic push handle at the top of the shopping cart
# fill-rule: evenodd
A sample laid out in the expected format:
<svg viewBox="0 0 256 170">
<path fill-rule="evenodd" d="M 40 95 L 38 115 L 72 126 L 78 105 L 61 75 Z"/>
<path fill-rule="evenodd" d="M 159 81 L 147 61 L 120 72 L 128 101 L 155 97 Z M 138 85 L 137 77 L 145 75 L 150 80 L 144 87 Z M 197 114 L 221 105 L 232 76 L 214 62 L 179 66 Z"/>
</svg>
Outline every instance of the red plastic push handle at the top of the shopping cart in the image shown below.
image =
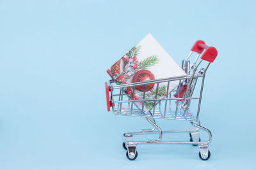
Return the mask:
<svg viewBox="0 0 256 170">
<path fill-rule="evenodd" d="M 191 51 L 197 53 L 202 53 L 204 50 L 205 52 L 201 56 L 201 59 L 213 62 L 218 55 L 218 51 L 213 46 L 207 46 L 205 45 L 204 41 L 198 40 L 196 41 L 195 45 L 191 48 Z"/>
</svg>

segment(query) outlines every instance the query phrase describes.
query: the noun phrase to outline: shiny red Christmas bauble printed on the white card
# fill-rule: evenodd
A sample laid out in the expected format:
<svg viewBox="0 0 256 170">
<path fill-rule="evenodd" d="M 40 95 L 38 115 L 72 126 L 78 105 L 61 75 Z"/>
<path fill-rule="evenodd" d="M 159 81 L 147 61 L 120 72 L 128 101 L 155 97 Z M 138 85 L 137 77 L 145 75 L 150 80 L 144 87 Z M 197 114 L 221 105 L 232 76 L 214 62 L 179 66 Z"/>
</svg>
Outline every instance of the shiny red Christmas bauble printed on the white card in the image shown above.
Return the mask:
<svg viewBox="0 0 256 170">
<path fill-rule="evenodd" d="M 132 83 L 140 82 L 140 81 L 147 81 L 147 80 L 155 80 L 155 76 L 153 73 L 148 71 L 147 69 L 141 69 L 137 73 L 134 74 L 132 78 Z M 153 89 L 154 84 L 146 85 L 146 92 Z M 140 85 L 135 87 L 136 90 L 139 90 L 141 92 L 144 92 L 144 85 Z"/>
</svg>

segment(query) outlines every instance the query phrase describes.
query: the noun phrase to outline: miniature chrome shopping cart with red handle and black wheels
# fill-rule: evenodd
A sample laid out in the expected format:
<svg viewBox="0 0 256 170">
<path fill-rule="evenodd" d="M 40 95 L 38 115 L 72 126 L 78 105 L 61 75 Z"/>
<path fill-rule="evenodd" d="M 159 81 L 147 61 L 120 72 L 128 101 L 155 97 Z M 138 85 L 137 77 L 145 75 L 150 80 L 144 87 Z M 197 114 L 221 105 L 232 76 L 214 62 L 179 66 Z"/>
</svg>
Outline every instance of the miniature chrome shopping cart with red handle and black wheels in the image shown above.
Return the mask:
<svg viewBox="0 0 256 170">
<path fill-rule="evenodd" d="M 211 62 L 213 62 L 216 58 L 217 54 L 218 52 L 216 48 L 207 46 L 205 45 L 204 41 L 198 40 L 191 49 L 188 57 L 182 61 L 182 69 L 187 73 L 185 76 L 175 76 L 127 84 L 115 84 L 114 80 L 110 80 L 109 85 L 108 83 L 105 83 L 108 111 L 110 111 L 110 108 L 112 108 L 113 113 L 116 115 L 145 117 L 153 126 L 152 129 L 143 129 L 140 132 L 127 132 L 124 134 L 123 147 L 125 150 L 127 150 L 126 156 L 129 160 L 136 159 L 138 156 L 136 147 L 142 144 L 198 145 L 200 149 L 200 159 L 209 159 L 211 156 L 209 151 L 209 143 L 211 142 L 212 134 L 209 129 L 206 129 L 200 125 L 199 113 L 204 88 L 205 73 Z M 190 62 L 189 59 L 192 58 L 191 56 L 195 56 L 194 62 Z M 198 60 L 199 57 L 200 60 Z M 179 86 L 172 90 L 172 92 L 168 92 L 168 87 L 172 81 L 179 81 Z M 134 91 L 134 88 L 137 86 L 146 87 L 146 85 L 154 84 L 157 87 L 157 96 L 159 83 L 167 83 L 168 86 L 166 89 L 166 96 L 161 99 L 157 99 L 157 97 L 154 99 L 145 99 L 145 90 L 143 99 L 139 100 L 134 100 L 134 97 L 131 98 L 125 94 L 125 89 L 128 87 L 132 88 Z M 152 110 L 150 110 L 148 113 L 145 113 L 143 106 L 142 109 L 135 106 L 136 102 L 142 102 L 144 104 L 148 101 L 154 102 L 154 108 L 152 108 Z M 193 126 L 195 126 L 195 129 L 162 131 L 162 129 L 156 124 L 156 118 L 168 120 L 188 120 Z M 207 132 L 209 136 L 207 141 L 200 140 L 199 130 Z M 163 134 L 172 132 L 189 132 L 190 141 L 163 141 Z M 145 139 L 145 141 L 133 141 L 133 136 L 140 134 L 159 134 L 159 138 Z"/>
</svg>

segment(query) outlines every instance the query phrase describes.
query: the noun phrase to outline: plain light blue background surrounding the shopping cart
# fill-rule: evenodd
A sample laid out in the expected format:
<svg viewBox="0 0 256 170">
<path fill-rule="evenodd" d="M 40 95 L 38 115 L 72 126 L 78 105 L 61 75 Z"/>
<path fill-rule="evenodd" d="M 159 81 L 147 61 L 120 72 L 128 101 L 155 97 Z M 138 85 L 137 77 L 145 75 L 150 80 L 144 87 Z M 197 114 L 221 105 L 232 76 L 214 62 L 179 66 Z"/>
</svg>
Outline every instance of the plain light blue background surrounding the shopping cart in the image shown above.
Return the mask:
<svg viewBox="0 0 256 170">
<path fill-rule="evenodd" d="M 0 169 L 256 169 L 255 7 L 1 0 Z M 200 115 L 213 136 L 209 161 L 188 145 L 141 145 L 136 161 L 125 157 L 122 134 L 150 126 L 106 110 L 106 69 L 148 32 L 179 64 L 198 39 L 218 49 Z"/>
</svg>

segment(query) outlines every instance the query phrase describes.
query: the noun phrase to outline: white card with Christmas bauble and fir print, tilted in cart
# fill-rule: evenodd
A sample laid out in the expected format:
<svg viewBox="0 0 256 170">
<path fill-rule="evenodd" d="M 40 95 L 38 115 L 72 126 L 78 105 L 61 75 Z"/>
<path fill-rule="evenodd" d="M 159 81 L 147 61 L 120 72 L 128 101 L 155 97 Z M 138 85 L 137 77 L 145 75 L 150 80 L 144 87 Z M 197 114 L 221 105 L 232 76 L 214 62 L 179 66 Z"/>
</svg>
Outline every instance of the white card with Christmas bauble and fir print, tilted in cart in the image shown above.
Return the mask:
<svg viewBox="0 0 256 170">
<path fill-rule="evenodd" d="M 134 46 L 120 60 L 118 60 L 107 71 L 116 83 L 133 83 L 146 80 L 155 80 L 159 78 L 168 78 L 173 76 L 182 76 L 186 73 L 156 41 L 152 34 L 148 34 L 138 45 Z M 179 81 L 170 81 L 170 93 L 179 85 Z M 125 93 L 133 100 L 143 99 L 144 88 L 145 99 L 154 99 L 156 97 L 156 84 L 138 86 L 133 89 L 128 87 Z M 157 99 L 166 96 L 167 83 L 159 83 L 157 90 Z M 142 102 L 135 103 L 140 110 Z M 154 107 L 154 101 L 144 102 L 143 112 L 147 113 Z"/>
</svg>

